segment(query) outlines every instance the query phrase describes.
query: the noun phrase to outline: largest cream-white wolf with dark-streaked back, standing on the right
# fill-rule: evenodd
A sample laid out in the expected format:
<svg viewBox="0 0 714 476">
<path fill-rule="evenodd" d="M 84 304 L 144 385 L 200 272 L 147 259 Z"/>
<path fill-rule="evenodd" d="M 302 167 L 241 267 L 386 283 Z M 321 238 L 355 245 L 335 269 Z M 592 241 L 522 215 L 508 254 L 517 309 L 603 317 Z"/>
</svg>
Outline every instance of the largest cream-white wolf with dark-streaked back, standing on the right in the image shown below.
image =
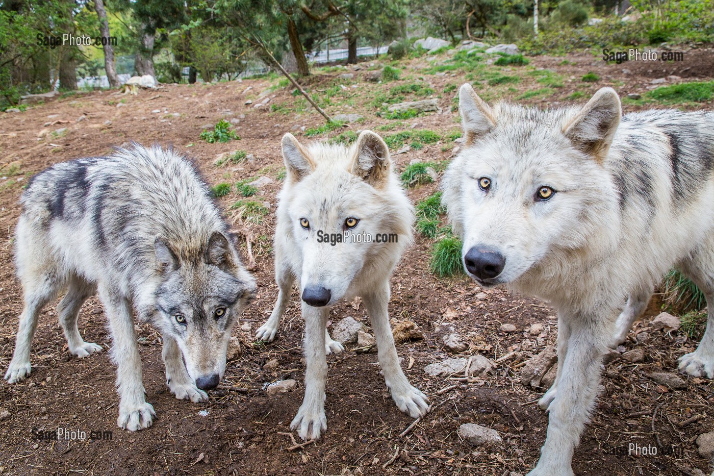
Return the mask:
<svg viewBox="0 0 714 476">
<path fill-rule="evenodd" d="M 622 116 L 610 88 L 583 107 L 489 105 L 468 84 L 459 109 L 466 144 L 443 179 L 443 202 L 478 284 L 558 310 L 558 374 L 540 400 L 548 435 L 529 474 L 573 475 L 603 354 L 671 267 L 710 309 L 679 368 L 714 377 L 714 113 Z"/>
</svg>

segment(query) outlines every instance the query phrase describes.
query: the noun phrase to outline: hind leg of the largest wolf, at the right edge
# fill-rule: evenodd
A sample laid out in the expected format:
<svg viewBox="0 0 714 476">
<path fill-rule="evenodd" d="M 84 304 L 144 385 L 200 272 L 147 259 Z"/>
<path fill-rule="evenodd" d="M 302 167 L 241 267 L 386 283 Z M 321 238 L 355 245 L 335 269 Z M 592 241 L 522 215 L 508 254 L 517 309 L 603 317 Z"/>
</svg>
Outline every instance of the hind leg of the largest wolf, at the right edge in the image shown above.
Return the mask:
<svg viewBox="0 0 714 476">
<path fill-rule="evenodd" d="M 692 377 L 714 379 L 714 237 L 708 239 L 679 268 L 704 293 L 709 311 L 704 337 L 694 352 L 680 357 L 679 370 Z"/>
</svg>

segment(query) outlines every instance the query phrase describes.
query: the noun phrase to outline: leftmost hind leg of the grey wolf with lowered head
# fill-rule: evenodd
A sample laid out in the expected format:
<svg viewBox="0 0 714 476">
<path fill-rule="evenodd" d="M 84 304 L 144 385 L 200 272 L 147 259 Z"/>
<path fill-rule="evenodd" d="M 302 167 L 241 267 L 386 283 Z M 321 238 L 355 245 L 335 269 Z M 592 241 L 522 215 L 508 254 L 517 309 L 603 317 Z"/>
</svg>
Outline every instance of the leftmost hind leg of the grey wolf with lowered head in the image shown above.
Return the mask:
<svg viewBox="0 0 714 476">
<path fill-rule="evenodd" d="M 22 287 L 25 294 L 25 307 L 20 314 L 20 323 L 15 339 L 15 352 L 10 365 L 5 372 L 5 380 L 9 383 L 19 382 L 30 375 L 30 348 L 32 337 L 37 329 L 37 319 L 42 308 L 55 299 L 61 287 L 56 272 L 49 271 L 30 275 L 29 269 L 24 270 L 21 276 Z"/>
</svg>

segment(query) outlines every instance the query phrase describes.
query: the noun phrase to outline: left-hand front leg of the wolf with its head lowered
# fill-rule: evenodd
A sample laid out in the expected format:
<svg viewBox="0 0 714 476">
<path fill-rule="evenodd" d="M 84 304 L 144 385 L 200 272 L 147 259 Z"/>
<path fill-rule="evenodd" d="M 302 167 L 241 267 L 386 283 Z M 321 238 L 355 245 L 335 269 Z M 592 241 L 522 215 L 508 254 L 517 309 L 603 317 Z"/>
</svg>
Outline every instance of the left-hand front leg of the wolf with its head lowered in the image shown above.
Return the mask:
<svg viewBox="0 0 714 476">
<path fill-rule="evenodd" d="M 99 287 L 99 298 L 109 316 L 109 327 L 114 341 L 111 346 L 111 360 L 117 367 L 116 387 L 121 398 L 116 424 L 130 432 L 148 428 L 156 412 L 144 398 L 141 356 L 136 347 L 131 305 L 119 292 L 104 286 Z"/>
</svg>

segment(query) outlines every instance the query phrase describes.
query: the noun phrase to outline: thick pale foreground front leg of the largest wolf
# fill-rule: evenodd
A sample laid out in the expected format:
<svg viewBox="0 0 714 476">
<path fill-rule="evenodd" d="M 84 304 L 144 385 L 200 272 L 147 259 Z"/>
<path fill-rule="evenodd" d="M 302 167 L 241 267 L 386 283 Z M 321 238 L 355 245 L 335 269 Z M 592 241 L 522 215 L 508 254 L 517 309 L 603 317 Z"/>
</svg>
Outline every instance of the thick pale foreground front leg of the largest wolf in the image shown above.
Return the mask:
<svg viewBox="0 0 714 476">
<path fill-rule="evenodd" d="M 548 435 L 528 476 L 573 476 L 573 452 L 595 403 L 610 329 L 602 316 L 570 319 L 565 358 L 558 362 L 558 392 L 548 407 Z"/>
</svg>

